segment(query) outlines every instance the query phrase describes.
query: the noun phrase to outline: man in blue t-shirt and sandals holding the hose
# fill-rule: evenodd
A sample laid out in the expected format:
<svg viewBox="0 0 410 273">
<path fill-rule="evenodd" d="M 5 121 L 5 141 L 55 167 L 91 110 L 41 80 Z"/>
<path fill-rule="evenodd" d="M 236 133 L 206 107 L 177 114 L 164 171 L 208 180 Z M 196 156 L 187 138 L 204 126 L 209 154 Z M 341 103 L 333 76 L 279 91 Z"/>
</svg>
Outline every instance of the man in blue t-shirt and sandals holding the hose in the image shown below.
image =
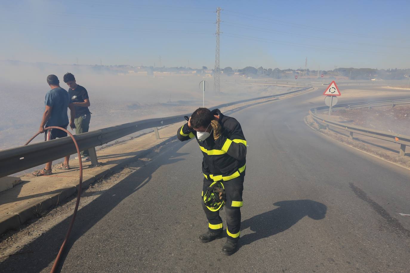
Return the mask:
<svg viewBox="0 0 410 273">
<path fill-rule="evenodd" d="M 70 127 L 71 130 L 75 128 L 74 117 L 75 117 L 75 107 L 71 101 L 68 92 L 60 87 L 60 81 L 56 75 L 48 75 L 47 83 L 51 90 L 46 93 L 46 99 L 44 104 L 46 109 L 43 113 L 43 119 L 40 124 L 40 133 L 45 133 L 44 140 L 53 140 L 56 138 L 64 138 L 67 136 L 65 131 L 60 129 L 48 129 L 44 130 L 45 127 L 58 126 L 67 129 L 68 126 L 68 116 L 67 107 L 70 108 Z M 70 169 L 68 165 L 68 160 L 70 155 L 64 158 L 64 162 L 57 169 Z M 52 162 L 46 163 L 46 166 L 41 171 L 33 173 L 35 176 L 43 176 L 52 174 L 51 171 Z"/>
</svg>

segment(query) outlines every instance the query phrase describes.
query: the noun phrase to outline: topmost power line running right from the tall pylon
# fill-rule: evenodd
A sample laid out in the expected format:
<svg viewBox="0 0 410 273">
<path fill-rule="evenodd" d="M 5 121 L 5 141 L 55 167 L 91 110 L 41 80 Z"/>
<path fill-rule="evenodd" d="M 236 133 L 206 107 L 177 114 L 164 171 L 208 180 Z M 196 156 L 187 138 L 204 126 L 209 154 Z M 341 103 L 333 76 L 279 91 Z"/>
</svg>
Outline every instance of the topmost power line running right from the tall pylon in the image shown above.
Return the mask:
<svg viewBox="0 0 410 273">
<path fill-rule="evenodd" d="M 320 27 L 312 27 L 312 26 L 308 26 L 308 25 L 295 24 L 295 23 L 285 22 L 285 21 L 281 21 L 281 20 L 275 20 L 275 19 L 271 19 L 271 18 L 255 16 L 255 15 L 251 15 L 251 14 L 244 14 L 244 13 L 240 13 L 240 12 L 236 12 L 236 11 L 229 11 L 229 10 L 225 10 L 225 11 L 236 13 L 236 14 L 242 14 L 242 15 L 246 15 L 246 16 L 251 16 L 251 17 L 255 17 L 255 18 L 262 18 L 262 19 L 265 19 L 265 20 L 249 18 L 249 17 L 239 16 L 239 15 L 234 15 L 234 14 L 225 14 L 225 15 L 228 15 L 228 16 L 235 16 L 235 17 L 239 17 L 239 18 L 257 20 L 257 21 L 260 21 L 260 22 L 271 23 L 271 24 L 285 25 L 285 26 L 288 26 L 288 27 L 297 27 L 297 28 L 302 28 L 302 29 L 317 30 L 317 31 L 321 31 L 321 32 L 328 32 L 328 33 L 335 33 L 335 34 L 342 34 L 342 35 L 350 35 L 350 36 L 360 36 L 360 37 L 365 37 L 365 38 L 410 41 L 408 39 L 384 37 L 384 36 L 373 36 L 373 35 L 367 35 L 367 34 L 343 32 L 343 31 L 335 30 L 335 29 L 325 29 L 325 28 L 320 28 Z M 269 20 L 269 21 L 266 21 L 266 20 Z M 280 23 L 276 23 L 276 22 L 280 22 Z"/>
</svg>

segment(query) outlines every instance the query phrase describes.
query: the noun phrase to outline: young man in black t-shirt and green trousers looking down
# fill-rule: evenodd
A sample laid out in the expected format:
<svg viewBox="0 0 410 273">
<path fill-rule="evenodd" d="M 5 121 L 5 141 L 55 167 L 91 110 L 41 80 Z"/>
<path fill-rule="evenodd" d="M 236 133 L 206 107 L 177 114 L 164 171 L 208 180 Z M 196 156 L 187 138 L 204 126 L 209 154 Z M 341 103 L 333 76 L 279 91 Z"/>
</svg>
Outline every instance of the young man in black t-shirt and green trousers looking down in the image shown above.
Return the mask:
<svg viewBox="0 0 410 273">
<path fill-rule="evenodd" d="M 66 73 L 63 79 L 69 87 L 68 95 L 70 95 L 75 106 L 75 134 L 86 133 L 88 132 L 91 119 L 91 112 L 88 110 L 90 100 L 87 90 L 75 82 L 75 77 L 70 72 Z M 78 159 L 78 157 L 75 159 Z M 88 150 L 81 152 L 81 161 L 90 161 Z"/>
</svg>

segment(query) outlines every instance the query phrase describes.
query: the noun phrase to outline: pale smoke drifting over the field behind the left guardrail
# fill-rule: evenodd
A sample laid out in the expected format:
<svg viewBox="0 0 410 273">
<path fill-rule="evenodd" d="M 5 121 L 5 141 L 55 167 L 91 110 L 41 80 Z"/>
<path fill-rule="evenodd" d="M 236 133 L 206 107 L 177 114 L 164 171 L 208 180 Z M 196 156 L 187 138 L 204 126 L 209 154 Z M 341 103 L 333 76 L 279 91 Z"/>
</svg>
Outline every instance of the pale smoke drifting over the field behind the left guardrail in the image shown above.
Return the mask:
<svg viewBox="0 0 410 273">
<path fill-rule="evenodd" d="M 202 106 L 204 78 L 196 74 L 129 72 L 122 67 L 55 65 L 0 61 L 0 149 L 22 145 L 39 129 L 44 97 L 50 90 L 46 77 L 55 74 L 68 90 L 63 75 L 71 72 L 90 97 L 90 131 L 126 122 L 184 114 Z M 212 78 L 206 78 L 205 107 L 241 99 L 282 93 L 289 88 L 235 84 L 222 77 L 221 93 L 214 94 Z M 208 89 L 209 87 L 209 89 Z M 36 141 L 42 141 L 39 136 Z"/>
</svg>

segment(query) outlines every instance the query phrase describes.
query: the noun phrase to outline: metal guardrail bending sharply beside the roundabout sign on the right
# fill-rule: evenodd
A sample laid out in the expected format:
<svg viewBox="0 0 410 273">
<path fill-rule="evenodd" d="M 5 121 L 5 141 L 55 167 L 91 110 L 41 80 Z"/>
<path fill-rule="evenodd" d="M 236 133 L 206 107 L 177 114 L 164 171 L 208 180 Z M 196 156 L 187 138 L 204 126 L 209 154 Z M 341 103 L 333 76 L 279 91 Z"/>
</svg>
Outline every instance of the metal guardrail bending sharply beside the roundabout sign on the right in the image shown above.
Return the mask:
<svg viewBox="0 0 410 273">
<path fill-rule="evenodd" d="M 353 104 L 341 104 L 338 106 L 333 106 L 333 109 L 335 108 L 347 109 L 347 110 L 359 109 L 359 108 L 369 108 L 370 109 L 371 107 L 378 107 L 378 106 L 390 106 L 391 105 L 392 107 L 394 107 L 395 105 L 398 105 L 398 104 L 410 104 L 410 98 L 373 101 L 373 102 L 358 102 L 358 103 L 353 103 Z M 361 126 L 355 126 L 352 124 L 346 124 L 342 122 L 335 122 L 323 116 L 322 117 L 317 116 L 317 111 L 321 111 L 321 110 L 327 111 L 327 109 L 329 109 L 328 106 L 312 108 L 309 110 L 309 113 L 312 116 L 312 118 L 319 123 L 324 123 L 327 126 L 330 125 L 335 128 L 348 131 L 350 139 L 353 139 L 353 133 L 357 133 L 359 135 L 366 135 L 372 138 L 387 140 L 389 142 L 400 144 L 400 150 L 399 150 L 400 156 L 404 156 L 406 146 L 410 146 L 410 135 L 392 134 L 390 132 L 373 130 L 373 129 L 369 129 L 369 128 L 365 128 Z"/>
</svg>

